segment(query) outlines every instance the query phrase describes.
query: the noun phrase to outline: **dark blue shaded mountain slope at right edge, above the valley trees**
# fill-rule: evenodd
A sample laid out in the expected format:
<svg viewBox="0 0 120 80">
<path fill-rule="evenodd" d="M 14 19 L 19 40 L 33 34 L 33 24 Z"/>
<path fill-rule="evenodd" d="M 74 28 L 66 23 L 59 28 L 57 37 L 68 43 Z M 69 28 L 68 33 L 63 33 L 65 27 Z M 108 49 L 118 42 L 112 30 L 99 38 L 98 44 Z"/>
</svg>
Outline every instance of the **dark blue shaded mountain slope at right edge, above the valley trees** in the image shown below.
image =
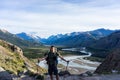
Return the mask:
<svg viewBox="0 0 120 80">
<path fill-rule="evenodd" d="M 96 41 L 92 47 L 96 49 L 120 48 L 120 31 L 114 32 L 107 37 L 101 38 L 100 40 Z"/>
</svg>

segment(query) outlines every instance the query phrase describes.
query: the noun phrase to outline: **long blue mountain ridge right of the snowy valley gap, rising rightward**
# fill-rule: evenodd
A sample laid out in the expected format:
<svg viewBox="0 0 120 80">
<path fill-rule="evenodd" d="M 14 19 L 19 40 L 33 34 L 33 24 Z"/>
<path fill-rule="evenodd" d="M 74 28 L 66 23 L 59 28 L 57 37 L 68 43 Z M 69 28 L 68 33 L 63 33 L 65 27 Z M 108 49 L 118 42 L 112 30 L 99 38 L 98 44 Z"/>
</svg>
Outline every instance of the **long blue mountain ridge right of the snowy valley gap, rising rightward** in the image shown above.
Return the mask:
<svg viewBox="0 0 120 80">
<path fill-rule="evenodd" d="M 42 39 L 41 41 L 47 45 L 63 45 L 63 46 L 89 46 L 96 40 L 108 36 L 113 33 L 114 30 L 97 29 L 94 31 L 86 32 L 73 32 L 70 34 L 58 34 L 50 36 L 48 39 Z"/>
</svg>

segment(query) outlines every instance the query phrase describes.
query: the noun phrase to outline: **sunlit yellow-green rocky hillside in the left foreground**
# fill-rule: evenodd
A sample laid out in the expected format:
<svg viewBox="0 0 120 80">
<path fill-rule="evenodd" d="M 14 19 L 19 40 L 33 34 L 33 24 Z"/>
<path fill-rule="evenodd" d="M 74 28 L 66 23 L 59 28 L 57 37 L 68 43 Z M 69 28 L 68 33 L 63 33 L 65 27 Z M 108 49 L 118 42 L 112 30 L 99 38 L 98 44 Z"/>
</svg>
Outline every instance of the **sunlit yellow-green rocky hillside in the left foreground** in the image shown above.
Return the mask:
<svg viewBox="0 0 120 80">
<path fill-rule="evenodd" d="M 19 73 L 24 74 L 25 72 L 27 72 L 28 75 L 35 73 L 42 74 L 45 72 L 44 69 L 24 57 L 19 47 L 0 40 L 0 78 L 2 77 L 3 71 L 16 76 L 19 75 Z"/>
</svg>

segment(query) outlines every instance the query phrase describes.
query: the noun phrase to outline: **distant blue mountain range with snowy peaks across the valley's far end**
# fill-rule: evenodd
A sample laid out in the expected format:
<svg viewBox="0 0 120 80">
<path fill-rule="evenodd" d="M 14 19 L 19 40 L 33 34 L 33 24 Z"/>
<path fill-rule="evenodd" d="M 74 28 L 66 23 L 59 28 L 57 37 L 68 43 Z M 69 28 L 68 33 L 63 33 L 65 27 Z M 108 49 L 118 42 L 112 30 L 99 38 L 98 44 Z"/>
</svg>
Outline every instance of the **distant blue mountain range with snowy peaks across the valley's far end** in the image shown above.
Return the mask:
<svg viewBox="0 0 120 80">
<path fill-rule="evenodd" d="M 109 34 L 115 32 L 116 30 L 109 29 L 97 29 L 93 31 L 86 32 L 72 32 L 66 34 L 51 35 L 47 39 L 40 38 L 39 35 L 27 34 L 25 32 L 16 34 L 18 37 L 27 41 L 37 41 L 45 45 L 59 45 L 67 47 L 78 47 L 78 46 L 88 46 L 94 43 L 96 40 L 108 36 Z"/>
</svg>

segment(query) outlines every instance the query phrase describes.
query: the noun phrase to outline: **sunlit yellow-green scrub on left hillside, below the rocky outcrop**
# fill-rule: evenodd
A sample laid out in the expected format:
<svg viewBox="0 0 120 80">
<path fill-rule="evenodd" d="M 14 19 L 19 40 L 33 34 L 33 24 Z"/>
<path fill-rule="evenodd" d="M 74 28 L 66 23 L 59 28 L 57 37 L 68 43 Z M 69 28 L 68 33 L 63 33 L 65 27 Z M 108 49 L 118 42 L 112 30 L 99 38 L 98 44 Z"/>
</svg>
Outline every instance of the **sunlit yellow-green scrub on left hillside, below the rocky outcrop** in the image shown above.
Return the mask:
<svg viewBox="0 0 120 80">
<path fill-rule="evenodd" d="M 0 53 L 0 66 L 5 70 L 9 71 L 13 74 L 18 74 L 19 72 L 23 72 L 26 70 L 24 66 L 24 60 L 20 57 L 19 54 L 9 52 L 6 49 L 2 49 L 1 51 L 5 52 Z"/>
</svg>

